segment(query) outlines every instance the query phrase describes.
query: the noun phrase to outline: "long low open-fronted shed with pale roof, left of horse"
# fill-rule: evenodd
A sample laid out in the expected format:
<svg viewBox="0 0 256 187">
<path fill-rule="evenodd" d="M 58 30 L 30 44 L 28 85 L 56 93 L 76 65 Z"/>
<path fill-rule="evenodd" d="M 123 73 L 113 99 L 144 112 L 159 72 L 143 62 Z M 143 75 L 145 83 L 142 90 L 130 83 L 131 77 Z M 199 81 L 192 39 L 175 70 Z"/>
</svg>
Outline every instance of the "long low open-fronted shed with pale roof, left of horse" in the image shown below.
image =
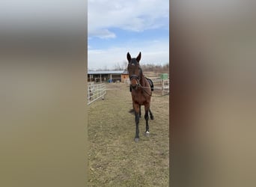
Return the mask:
<svg viewBox="0 0 256 187">
<path fill-rule="evenodd" d="M 128 77 L 125 70 L 88 71 L 88 82 L 124 82 Z"/>
</svg>

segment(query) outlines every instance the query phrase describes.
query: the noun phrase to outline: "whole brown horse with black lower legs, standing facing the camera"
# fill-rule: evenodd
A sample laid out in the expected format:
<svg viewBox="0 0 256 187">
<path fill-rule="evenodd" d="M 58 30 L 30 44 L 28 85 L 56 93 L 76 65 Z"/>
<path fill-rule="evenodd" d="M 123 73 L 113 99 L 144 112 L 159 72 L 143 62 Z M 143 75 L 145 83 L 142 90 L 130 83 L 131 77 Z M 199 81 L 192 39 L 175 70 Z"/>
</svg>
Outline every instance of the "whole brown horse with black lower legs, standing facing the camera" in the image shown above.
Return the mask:
<svg viewBox="0 0 256 187">
<path fill-rule="evenodd" d="M 129 72 L 129 80 L 131 84 L 132 92 L 132 106 L 135 111 L 135 141 L 139 140 L 139 130 L 138 122 L 141 113 L 141 105 L 144 105 L 145 114 L 144 119 L 146 120 L 146 131 L 145 135 L 149 135 L 149 125 L 148 125 L 148 112 L 150 111 L 150 99 L 151 99 L 151 88 L 146 77 L 142 73 L 142 69 L 139 65 L 141 60 L 141 52 L 139 52 L 137 58 L 131 58 L 129 52 L 127 53 L 127 60 L 129 62 L 127 70 Z M 150 118 L 153 120 L 153 114 L 150 111 Z"/>
</svg>

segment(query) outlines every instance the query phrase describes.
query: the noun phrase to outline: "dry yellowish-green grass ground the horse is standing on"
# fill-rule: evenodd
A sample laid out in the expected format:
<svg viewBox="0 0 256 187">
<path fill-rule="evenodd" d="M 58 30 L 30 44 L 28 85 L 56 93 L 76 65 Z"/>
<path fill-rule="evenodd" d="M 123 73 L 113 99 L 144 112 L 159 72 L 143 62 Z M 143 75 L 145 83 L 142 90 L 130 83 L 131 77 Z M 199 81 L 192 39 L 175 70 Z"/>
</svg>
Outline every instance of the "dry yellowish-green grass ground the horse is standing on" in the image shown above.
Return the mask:
<svg viewBox="0 0 256 187">
<path fill-rule="evenodd" d="M 153 91 L 150 137 L 141 106 L 136 143 L 129 86 L 108 83 L 106 89 L 104 100 L 88 105 L 88 186 L 169 186 L 169 96 Z"/>
</svg>

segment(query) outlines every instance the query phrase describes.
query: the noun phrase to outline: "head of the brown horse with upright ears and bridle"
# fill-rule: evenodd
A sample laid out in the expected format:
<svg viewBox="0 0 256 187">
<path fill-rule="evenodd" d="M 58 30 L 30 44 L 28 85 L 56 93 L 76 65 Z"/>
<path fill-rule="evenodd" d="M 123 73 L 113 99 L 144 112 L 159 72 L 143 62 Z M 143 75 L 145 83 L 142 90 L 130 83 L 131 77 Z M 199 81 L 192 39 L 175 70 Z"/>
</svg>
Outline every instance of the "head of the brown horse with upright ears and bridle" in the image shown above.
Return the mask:
<svg viewBox="0 0 256 187">
<path fill-rule="evenodd" d="M 137 58 L 131 58 L 131 55 L 129 55 L 128 52 L 127 60 L 129 62 L 127 67 L 129 80 L 131 82 L 132 88 L 136 89 L 142 76 L 142 70 L 139 65 L 139 61 L 141 60 L 141 52 L 139 52 Z"/>
</svg>

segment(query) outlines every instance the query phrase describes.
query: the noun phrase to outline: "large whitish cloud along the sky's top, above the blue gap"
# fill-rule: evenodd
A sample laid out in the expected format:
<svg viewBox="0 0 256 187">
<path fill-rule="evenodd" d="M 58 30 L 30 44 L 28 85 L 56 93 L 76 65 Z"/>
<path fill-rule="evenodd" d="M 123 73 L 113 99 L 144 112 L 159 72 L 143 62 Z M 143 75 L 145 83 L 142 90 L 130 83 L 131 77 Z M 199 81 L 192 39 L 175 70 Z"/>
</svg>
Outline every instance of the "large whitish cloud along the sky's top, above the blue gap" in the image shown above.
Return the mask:
<svg viewBox="0 0 256 187">
<path fill-rule="evenodd" d="M 88 36 L 115 37 L 109 28 L 129 31 L 159 28 L 168 25 L 168 15 L 168 0 L 89 0 Z"/>
</svg>

